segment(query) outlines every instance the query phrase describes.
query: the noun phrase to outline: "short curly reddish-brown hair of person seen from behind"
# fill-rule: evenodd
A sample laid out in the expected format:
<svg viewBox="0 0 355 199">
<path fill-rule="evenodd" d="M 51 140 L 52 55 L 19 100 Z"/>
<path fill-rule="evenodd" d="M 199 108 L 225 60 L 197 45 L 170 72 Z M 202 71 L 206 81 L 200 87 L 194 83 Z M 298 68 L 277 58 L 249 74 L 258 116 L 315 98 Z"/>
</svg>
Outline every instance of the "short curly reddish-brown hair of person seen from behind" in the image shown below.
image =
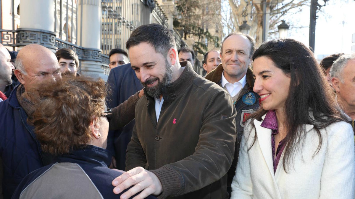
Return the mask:
<svg viewBox="0 0 355 199">
<path fill-rule="evenodd" d="M 26 92 L 35 106 L 29 121 L 42 150 L 60 155 L 91 141 L 89 126 L 100 119 L 108 91 L 102 79 L 63 76 Z"/>
</svg>

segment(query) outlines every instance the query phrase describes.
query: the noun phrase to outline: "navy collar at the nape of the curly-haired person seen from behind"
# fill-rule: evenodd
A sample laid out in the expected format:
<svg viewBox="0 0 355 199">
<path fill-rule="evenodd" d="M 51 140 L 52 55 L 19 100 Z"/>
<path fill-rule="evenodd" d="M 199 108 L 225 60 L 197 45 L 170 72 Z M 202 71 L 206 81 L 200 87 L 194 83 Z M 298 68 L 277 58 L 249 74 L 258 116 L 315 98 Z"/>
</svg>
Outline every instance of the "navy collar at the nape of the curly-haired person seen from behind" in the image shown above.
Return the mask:
<svg viewBox="0 0 355 199">
<path fill-rule="evenodd" d="M 111 155 L 109 151 L 104 148 L 87 145 L 83 146 L 81 149 L 74 149 L 69 154 L 55 157 L 52 163 L 85 163 L 108 167 L 108 165 L 111 164 Z"/>
</svg>

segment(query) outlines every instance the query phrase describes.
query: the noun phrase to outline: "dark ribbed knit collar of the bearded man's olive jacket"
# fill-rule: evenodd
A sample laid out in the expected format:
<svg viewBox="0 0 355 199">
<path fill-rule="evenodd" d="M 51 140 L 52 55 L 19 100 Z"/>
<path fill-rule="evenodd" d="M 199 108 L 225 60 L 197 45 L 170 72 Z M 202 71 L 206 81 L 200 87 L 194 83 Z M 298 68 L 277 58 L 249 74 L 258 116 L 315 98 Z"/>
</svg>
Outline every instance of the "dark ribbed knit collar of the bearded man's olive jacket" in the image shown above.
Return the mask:
<svg viewBox="0 0 355 199">
<path fill-rule="evenodd" d="M 180 62 L 181 67 L 185 67 L 184 71 L 181 73 L 179 78 L 174 82 L 166 85 L 162 89 L 164 102 L 171 103 L 176 97 L 178 97 L 185 89 L 193 83 L 193 80 L 198 76 L 198 74 L 192 69 L 192 65 L 189 61 Z M 144 89 L 146 94 L 146 90 Z M 153 100 L 154 98 L 146 94 L 148 100 Z"/>
</svg>

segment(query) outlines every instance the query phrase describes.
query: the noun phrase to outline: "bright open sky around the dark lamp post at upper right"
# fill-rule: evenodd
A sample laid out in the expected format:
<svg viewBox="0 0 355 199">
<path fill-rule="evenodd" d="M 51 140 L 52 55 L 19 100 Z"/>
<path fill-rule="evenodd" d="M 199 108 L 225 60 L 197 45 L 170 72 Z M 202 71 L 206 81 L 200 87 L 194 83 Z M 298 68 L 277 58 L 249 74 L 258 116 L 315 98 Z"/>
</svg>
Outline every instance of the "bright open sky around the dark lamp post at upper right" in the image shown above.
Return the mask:
<svg viewBox="0 0 355 199">
<path fill-rule="evenodd" d="M 305 28 L 297 30 L 290 27 L 289 38 L 308 45 L 310 8 L 305 7 L 297 15 L 297 23 Z M 318 12 L 316 20 L 315 55 L 330 55 L 333 53 L 351 53 L 351 35 L 355 34 L 355 1 L 330 0 Z M 295 15 L 289 16 L 294 18 Z M 344 25 L 343 25 L 344 21 Z"/>
</svg>

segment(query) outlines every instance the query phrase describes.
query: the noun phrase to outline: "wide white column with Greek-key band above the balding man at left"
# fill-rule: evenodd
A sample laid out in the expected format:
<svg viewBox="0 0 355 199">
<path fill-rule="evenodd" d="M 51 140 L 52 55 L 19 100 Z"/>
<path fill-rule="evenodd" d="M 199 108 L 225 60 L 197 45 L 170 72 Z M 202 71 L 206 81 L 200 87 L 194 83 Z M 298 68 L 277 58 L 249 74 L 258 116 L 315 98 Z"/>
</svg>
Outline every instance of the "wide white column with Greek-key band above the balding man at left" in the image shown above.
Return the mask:
<svg viewBox="0 0 355 199">
<path fill-rule="evenodd" d="M 54 1 L 21 0 L 21 23 L 17 46 L 40 44 L 55 52 Z"/>
</svg>

